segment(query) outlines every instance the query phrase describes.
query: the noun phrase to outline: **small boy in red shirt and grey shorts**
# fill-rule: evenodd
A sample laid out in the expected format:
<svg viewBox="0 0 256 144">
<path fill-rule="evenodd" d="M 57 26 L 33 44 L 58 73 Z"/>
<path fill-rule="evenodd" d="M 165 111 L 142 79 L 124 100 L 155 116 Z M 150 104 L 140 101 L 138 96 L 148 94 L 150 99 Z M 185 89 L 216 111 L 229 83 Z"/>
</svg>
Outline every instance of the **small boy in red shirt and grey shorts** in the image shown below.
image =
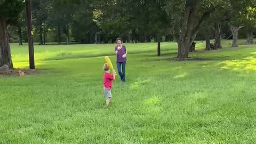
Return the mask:
<svg viewBox="0 0 256 144">
<path fill-rule="evenodd" d="M 107 63 L 104 64 L 103 70 L 105 71 L 103 75 L 103 91 L 106 97 L 106 106 L 108 106 L 111 98 L 112 81 L 115 81 L 116 79 L 116 71 L 113 69 L 111 75 Z"/>
</svg>

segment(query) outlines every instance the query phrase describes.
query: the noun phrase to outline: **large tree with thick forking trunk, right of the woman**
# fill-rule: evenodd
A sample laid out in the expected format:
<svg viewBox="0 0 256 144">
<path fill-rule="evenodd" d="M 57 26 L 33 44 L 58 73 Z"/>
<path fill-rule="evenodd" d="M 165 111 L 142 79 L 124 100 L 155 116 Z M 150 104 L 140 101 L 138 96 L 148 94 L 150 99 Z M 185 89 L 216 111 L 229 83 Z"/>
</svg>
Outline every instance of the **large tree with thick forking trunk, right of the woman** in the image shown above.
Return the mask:
<svg viewBox="0 0 256 144">
<path fill-rule="evenodd" d="M 202 23 L 220 7 L 223 1 L 183 0 L 167 1 L 165 9 L 170 16 L 172 33 L 178 43 L 178 59 L 187 59 Z"/>
</svg>

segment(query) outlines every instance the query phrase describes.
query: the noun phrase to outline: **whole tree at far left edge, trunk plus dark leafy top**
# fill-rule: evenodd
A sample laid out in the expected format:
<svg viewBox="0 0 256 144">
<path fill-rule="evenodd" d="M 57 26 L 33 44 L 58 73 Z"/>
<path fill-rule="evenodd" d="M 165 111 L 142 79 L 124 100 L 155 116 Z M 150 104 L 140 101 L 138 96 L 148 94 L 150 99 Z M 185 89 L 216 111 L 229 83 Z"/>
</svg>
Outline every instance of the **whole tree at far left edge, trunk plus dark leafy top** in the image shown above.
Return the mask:
<svg viewBox="0 0 256 144">
<path fill-rule="evenodd" d="M 0 1 L 0 66 L 13 68 L 7 27 L 17 23 L 24 8 L 23 0 Z"/>
</svg>

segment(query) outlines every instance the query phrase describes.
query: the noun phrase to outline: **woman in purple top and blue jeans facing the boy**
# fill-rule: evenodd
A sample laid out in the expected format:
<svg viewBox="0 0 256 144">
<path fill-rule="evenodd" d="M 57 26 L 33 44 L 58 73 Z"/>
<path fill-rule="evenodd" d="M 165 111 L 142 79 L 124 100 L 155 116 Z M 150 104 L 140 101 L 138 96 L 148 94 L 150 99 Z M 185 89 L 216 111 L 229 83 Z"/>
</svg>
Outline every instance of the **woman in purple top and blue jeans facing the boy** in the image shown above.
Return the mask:
<svg viewBox="0 0 256 144">
<path fill-rule="evenodd" d="M 118 74 L 121 78 L 122 82 L 125 82 L 125 65 L 126 65 L 126 47 L 123 45 L 123 41 L 121 38 L 116 39 L 117 46 L 115 47 L 115 53 L 116 53 L 116 65 Z M 122 71 L 121 71 L 122 66 Z"/>
</svg>

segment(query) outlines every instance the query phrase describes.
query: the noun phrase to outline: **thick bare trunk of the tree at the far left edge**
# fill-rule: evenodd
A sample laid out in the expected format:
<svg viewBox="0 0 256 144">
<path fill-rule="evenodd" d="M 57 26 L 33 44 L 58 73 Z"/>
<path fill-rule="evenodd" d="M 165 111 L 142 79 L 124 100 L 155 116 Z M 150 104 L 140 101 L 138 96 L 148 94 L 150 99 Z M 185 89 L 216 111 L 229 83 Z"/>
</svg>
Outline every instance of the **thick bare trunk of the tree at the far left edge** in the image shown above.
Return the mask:
<svg viewBox="0 0 256 144">
<path fill-rule="evenodd" d="M 6 19 L 0 15 L 0 67 L 5 64 L 13 69 Z"/>
</svg>

